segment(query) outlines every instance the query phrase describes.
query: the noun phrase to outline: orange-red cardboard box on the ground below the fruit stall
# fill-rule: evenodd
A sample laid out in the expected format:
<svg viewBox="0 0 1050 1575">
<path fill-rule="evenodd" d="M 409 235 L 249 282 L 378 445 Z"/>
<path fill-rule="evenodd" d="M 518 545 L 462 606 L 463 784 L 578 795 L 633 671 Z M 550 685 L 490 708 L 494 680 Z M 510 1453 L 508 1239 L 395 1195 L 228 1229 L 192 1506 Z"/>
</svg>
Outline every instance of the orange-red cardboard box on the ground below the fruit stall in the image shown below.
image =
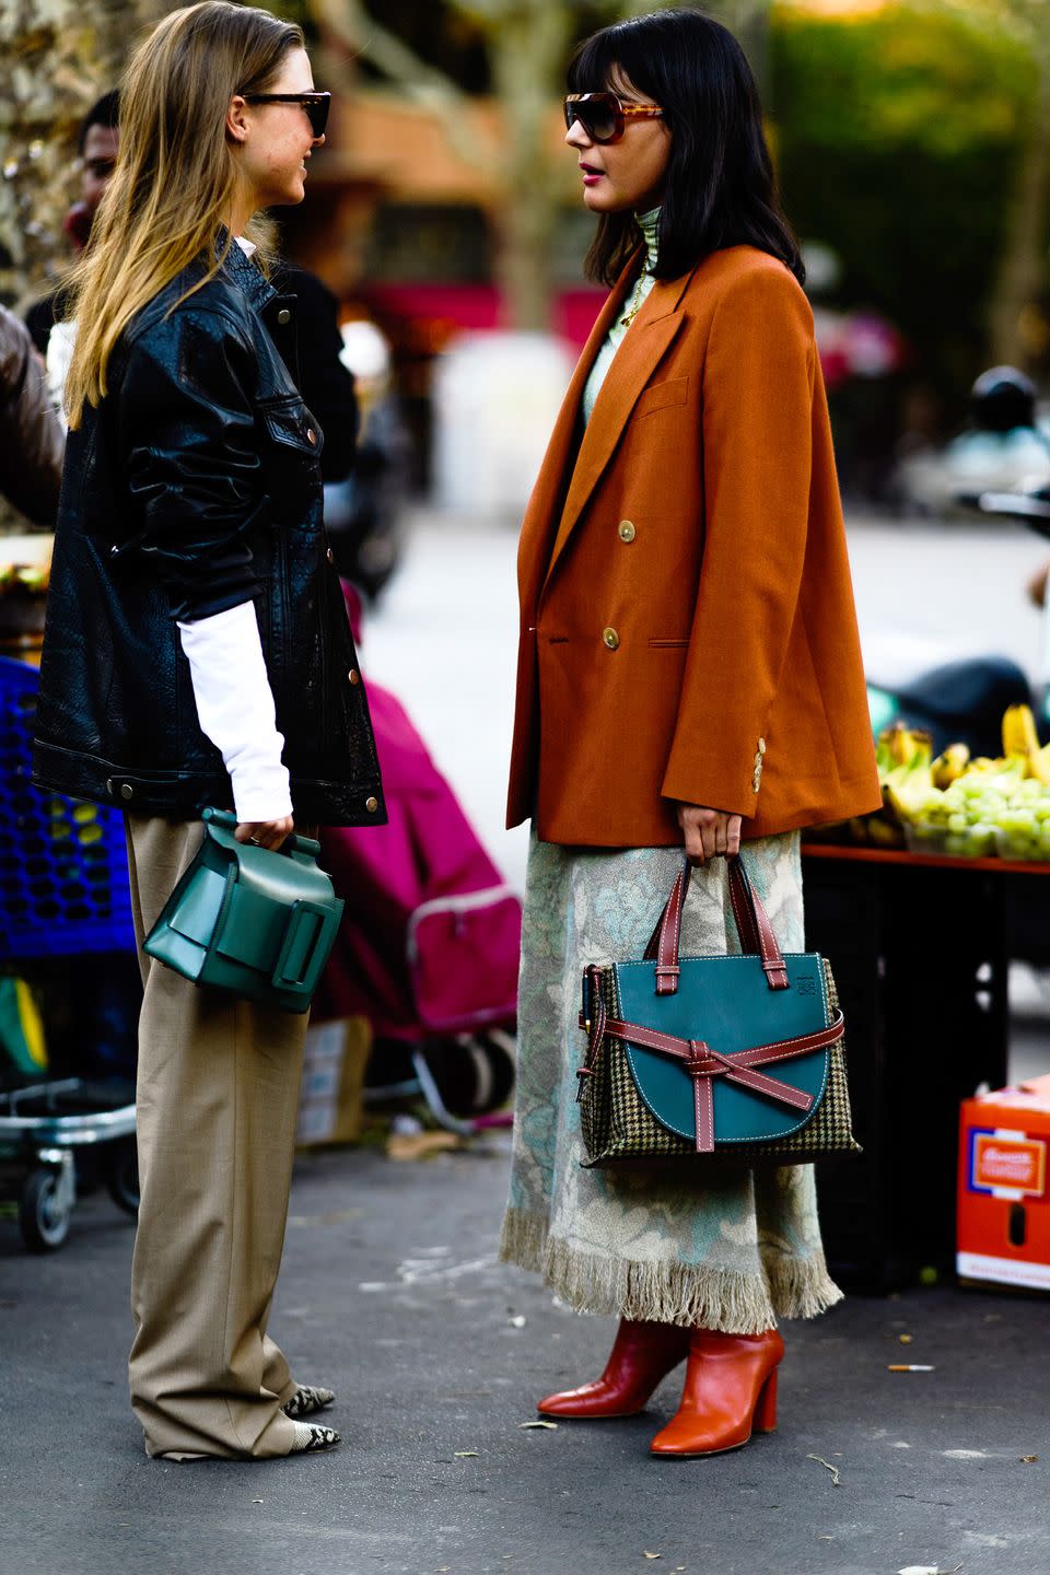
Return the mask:
<svg viewBox="0 0 1050 1575">
<path fill-rule="evenodd" d="M 1050 1290 L 1050 1076 L 963 1099 L 956 1268 Z"/>
</svg>

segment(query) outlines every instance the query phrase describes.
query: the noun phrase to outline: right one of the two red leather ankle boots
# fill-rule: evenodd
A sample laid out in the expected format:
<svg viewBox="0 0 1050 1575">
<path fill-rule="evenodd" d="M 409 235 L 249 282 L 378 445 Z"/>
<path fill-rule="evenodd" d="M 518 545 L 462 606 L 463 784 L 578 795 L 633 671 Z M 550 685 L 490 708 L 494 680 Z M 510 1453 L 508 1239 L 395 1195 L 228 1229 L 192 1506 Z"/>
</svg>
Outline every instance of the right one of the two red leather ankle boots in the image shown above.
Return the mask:
<svg viewBox="0 0 1050 1575">
<path fill-rule="evenodd" d="M 652 1441 L 655 1455 L 718 1455 L 776 1427 L 776 1369 L 784 1340 L 694 1329 L 682 1405 Z"/>
</svg>

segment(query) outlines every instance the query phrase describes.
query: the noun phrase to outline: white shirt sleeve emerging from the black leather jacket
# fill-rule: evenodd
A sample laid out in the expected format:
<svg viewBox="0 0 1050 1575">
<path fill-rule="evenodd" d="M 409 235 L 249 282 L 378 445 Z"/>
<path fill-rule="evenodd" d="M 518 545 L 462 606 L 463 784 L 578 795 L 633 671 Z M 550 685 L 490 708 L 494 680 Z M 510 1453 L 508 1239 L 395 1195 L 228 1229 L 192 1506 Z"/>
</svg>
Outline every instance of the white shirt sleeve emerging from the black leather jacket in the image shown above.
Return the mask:
<svg viewBox="0 0 1050 1575">
<path fill-rule="evenodd" d="M 280 759 L 274 695 L 266 676 L 253 602 L 178 625 L 194 680 L 201 731 L 222 753 L 238 821 L 291 814 L 288 772 Z"/>
</svg>

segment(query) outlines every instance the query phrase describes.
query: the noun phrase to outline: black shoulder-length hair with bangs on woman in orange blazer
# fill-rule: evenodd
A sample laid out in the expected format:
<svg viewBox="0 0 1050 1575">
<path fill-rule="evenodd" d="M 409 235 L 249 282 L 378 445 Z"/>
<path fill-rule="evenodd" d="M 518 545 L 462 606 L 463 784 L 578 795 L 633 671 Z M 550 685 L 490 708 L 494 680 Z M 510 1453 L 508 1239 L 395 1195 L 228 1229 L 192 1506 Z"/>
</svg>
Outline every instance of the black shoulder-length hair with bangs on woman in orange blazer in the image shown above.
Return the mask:
<svg viewBox="0 0 1050 1575">
<path fill-rule="evenodd" d="M 614 22 L 573 55 L 568 91 L 616 90 L 617 76 L 663 107 L 671 132 L 656 279 L 677 279 L 724 246 L 754 246 L 801 284 L 806 271 L 776 198 L 759 93 L 732 33 L 693 9 Z M 587 277 L 614 284 L 641 239 L 633 213 L 601 214 Z"/>
</svg>

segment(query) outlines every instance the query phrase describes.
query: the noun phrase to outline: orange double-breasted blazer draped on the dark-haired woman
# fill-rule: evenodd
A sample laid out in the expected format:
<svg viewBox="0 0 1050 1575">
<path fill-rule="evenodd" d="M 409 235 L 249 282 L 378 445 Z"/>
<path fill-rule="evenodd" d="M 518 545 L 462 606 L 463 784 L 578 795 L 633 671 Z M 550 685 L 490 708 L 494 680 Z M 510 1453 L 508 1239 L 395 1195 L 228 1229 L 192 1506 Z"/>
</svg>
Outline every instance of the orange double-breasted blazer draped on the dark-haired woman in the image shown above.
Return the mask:
<svg viewBox="0 0 1050 1575">
<path fill-rule="evenodd" d="M 658 280 L 581 435 L 636 263 L 573 373 L 518 554 L 507 825 L 682 841 L 675 803 L 768 836 L 880 803 L 812 312 L 749 246 Z"/>
</svg>

